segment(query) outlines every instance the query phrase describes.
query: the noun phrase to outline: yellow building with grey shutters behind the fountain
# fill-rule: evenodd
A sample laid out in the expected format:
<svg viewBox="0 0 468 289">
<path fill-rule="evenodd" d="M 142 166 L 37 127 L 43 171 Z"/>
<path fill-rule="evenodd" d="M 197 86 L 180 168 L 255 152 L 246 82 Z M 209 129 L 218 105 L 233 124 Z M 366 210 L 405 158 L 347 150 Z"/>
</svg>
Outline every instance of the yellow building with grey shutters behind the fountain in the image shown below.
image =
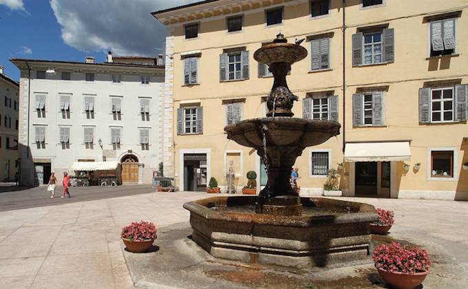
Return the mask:
<svg viewBox="0 0 468 289">
<path fill-rule="evenodd" d="M 345 196 L 468 200 L 467 14 L 463 0 L 209 0 L 153 12 L 167 27 L 164 174 L 185 191 L 211 177 L 226 191 L 230 167 L 238 192 L 247 171 L 266 183 L 256 152 L 224 127 L 265 116 L 273 77 L 253 53 L 281 32 L 308 50 L 287 77 L 295 117 L 341 123 L 297 159 L 301 195 L 321 195 L 339 169 Z"/>
</svg>

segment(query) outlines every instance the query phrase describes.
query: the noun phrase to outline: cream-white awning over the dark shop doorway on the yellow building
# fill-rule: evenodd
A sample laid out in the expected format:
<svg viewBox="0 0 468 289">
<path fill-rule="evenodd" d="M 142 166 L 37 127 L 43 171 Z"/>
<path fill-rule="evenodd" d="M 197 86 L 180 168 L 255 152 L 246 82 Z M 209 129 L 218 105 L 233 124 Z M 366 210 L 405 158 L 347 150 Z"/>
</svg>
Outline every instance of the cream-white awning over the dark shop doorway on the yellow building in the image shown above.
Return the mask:
<svg viewBox="0 0 468 289">
<path fill-rule="evenodd" d="M 359 142 L 347 143 L 346 162 L 390 162 L 410 160 L 409 142 Z"/>
</svg>

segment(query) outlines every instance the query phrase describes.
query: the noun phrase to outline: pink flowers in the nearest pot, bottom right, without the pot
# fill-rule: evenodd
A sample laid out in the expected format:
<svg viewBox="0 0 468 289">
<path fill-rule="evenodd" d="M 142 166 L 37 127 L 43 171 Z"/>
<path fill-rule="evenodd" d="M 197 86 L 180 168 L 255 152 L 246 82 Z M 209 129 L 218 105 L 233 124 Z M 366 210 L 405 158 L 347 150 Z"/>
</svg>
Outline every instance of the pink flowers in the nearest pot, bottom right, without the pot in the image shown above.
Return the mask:
<svg viewBox="0 0 468 289">
<path fill-rule="evenodd" d="M 372 255 L 375 267 L 387 272 L 415 274 L 427 272 L 431 261 L 427 251 L 418 246 L 412 248 L 399 243 L 381 244 Z"/>
</svg>

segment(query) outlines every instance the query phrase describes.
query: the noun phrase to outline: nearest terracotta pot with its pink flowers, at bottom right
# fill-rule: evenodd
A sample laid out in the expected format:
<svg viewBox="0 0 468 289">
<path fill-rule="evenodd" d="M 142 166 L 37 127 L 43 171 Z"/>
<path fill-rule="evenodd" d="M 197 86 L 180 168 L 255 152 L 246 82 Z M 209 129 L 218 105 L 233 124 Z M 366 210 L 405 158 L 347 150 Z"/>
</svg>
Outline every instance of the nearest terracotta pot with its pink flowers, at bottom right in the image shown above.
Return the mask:
<svg viewBox="0 0 468 289">
<path fill-rule="evenodd" d="M 416 288 L 423 283 L 431 261 L 427 251 L 394 243 L 381 244 L 372 255 L 382 279 L 394 288 Z"/>
</svg>

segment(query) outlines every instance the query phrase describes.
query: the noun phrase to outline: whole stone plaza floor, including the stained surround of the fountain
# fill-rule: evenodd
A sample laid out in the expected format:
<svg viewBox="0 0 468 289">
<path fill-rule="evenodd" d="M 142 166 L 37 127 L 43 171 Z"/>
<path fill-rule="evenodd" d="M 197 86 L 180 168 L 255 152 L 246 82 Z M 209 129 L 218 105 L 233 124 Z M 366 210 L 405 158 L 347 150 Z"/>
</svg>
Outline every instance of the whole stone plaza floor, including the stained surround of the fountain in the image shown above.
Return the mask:
<svg viewBox="0 0 468 289">
<path fill-rule="evenodd" d="M 189 212 L 182 204 L 204 197 L 209 195 L 145 193 L 0 212 L 0 288 L 385 288 L 370 278 L 357 282 L 357 270 L 372 270 L 369 264 L 315 272 L 322 279 L 314 270 L 242 265 L 235 267 L 244 270 L 243 278 L 230 274 L 233 264 L 206 259 L 187 238 Z M 434 259 L 424 288 L 466 288 L 468 202 L 341 199 L 395 211 L 390 238 L 420 244 Z M 123 250 L 121 227 L 138 220 L 156 224 L 158 250 Z"/>
</svg>

